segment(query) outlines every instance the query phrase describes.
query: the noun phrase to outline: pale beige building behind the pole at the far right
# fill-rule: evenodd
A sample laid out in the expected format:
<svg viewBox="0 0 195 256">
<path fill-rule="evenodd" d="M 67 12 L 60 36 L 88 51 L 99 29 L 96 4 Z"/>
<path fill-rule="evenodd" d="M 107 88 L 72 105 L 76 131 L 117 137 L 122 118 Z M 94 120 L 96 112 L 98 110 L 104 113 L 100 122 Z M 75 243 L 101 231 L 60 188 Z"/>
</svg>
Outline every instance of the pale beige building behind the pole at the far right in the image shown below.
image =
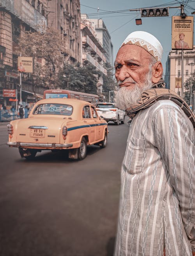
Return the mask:
<svg viewBox="0 0 195 256">
<path fill-rule="evenodd" d="M 193 63 L 194 66 L 189 65 Z M 181 95 L 181 50 L 171 50 L 167 57 L 165 84 L 168 89 Z M 184 83 L 191 74 L 195 74 L 195 45 L 193 50 L 183 50 L 183 80 Z"/>
</svg>

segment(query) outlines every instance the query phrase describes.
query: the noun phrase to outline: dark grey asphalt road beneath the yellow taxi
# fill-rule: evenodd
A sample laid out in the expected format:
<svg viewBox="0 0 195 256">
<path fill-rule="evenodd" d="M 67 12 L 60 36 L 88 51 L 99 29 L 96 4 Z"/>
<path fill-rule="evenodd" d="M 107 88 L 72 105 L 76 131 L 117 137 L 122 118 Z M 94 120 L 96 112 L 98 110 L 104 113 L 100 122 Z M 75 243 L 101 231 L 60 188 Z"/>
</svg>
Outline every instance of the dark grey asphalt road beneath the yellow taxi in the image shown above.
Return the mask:
<svg viewBox="0 0 195 256">
<path fill-rule="evenodd" d="M 106 148 L 89 146 L 82 161 L 51 151 L 27 161 L 0 125 L 1 256 L 113 254 L 129 126 L 108 129 Z"/>
</svg>

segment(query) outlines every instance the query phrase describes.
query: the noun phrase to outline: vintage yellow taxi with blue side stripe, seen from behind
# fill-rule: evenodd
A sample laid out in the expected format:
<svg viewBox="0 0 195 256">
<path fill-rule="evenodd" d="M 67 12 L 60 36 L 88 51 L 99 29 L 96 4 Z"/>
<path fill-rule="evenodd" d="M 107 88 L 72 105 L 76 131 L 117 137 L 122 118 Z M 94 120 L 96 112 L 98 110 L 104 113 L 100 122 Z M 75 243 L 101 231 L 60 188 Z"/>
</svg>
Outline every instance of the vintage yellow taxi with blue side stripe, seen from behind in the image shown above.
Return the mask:
<svg viewBox="0 0 195 256">
<path fill-rule="evenodd" d="M 42 150 L 69 150 L 69 158 L 82 160 L 87 145 L 107 144 L 108 126 L 94 105 L 87 101 L 57 98 L 38 101 L 28 118 L 7 125 L 9 147 L 32 159 Z"/>
</svg>

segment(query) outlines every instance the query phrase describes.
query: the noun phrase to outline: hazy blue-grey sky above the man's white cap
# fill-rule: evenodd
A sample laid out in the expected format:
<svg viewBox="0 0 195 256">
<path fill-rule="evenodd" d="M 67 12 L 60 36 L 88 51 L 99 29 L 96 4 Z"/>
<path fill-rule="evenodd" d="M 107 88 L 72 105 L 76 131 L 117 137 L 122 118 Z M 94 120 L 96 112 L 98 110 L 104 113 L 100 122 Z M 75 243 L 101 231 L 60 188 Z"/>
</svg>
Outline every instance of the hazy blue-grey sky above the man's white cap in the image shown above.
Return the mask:
<svg viewBox="0 0 195 256">
<path fill-rule="evenodd" d="M 181 9 L 169 8 L 169 16 L 166 17 L 143 18 L 140 11 L 129 10 L 149 7 L 179 7 L 181 4 L 184 5 L 184 13 L 187 16 L 194 16 L 195 20 L 195 15 L 191 14 L 195 11 L 195 0 L 80 0 L 80 9 L 81 14 L 85 13 L 89 18 L 99 18 L 104 21 L 113 44 L 113 60 L 115 60 L 122 42 L 131 32 L 142 30 L 153 34 L 163 46 L 162 64 L 163 74 L 165 74 L 165 65 L 171 50 L 172 16 L 180 16 Z M 139 18 L 142 19 L 142 25 L 135 24 L 135 19 Z M 195 21 L 193 24 L 195 27 Z M 195 34 L 193 45 L 195 45 Z"/>
</svg>

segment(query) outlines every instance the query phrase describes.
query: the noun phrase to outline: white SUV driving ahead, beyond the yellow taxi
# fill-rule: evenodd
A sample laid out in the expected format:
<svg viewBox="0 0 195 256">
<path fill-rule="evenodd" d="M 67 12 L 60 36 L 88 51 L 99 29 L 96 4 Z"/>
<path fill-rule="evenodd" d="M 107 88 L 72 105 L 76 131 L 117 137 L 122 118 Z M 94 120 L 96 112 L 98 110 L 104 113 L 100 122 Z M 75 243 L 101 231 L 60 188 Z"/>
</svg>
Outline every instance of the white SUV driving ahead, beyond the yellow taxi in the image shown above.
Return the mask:
<svg viewBox="0 0 195 256">
<path fill-rule="evenodd" d="M 125 112 L 116 107 L 115 103 L 112 102 L 98 102 L 96 110 L 99 116 L 108 121 L 113 121 L 116 125 L 124 124 Z"/>
</svg>

